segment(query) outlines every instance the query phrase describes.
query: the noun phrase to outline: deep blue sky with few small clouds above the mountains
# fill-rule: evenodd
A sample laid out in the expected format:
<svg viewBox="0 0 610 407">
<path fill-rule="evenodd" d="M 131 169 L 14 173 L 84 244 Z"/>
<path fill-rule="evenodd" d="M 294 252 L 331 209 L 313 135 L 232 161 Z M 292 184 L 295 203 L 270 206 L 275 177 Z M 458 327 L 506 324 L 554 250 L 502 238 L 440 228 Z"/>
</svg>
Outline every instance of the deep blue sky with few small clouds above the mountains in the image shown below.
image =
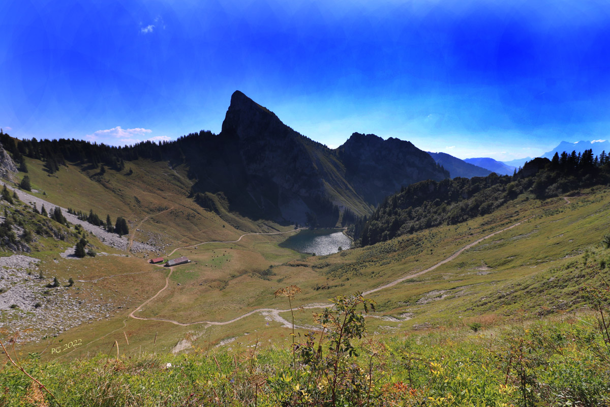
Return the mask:
<svg viewBox="0 0 610 407">
<path fill-rule="evenodd" d="M 331 147 L 510 160 L 610 138 L 608 1 L 23 0 L 0 27 L 20 139 L 220 132 L 234 90 Z"/>
</svg>

